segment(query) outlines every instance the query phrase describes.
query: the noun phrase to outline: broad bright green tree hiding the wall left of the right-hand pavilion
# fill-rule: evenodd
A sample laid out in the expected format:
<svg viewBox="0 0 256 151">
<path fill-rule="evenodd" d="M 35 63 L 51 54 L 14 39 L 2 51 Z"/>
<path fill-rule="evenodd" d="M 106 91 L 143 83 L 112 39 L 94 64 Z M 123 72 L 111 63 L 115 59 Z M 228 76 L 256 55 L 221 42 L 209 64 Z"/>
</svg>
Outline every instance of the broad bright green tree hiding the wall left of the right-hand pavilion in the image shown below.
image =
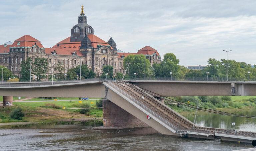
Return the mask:
<svg viewBox="0 0 256 151">
<path fill-rule="evenodd" d="M 130 63 L 128 68 L 128 75 L 129 77 L 134 77 L 134 73 L 136 73 L 136 77 L 138 78 L 144 78 L 144 61 L 146 61 L 146 77 L 153 77 L 154 76 L 154 70 L 151 67 L 150 61 L 146 59 L 145 55 L 139 54 L 139 55 L 128 55 L 124 58 L 124 65 L 127 63 Z M 127 67 L 127 66 L 126 66 Z M 126 68 L 124 67 L 124 68 Z"/>
</svg>

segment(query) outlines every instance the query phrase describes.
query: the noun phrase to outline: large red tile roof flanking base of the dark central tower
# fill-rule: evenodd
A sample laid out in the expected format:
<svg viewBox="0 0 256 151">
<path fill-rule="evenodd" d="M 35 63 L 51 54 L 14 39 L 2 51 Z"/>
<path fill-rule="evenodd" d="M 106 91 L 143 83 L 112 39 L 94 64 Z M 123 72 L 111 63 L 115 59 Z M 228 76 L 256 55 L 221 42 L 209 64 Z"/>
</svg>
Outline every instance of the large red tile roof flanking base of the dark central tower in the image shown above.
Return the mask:
<svg viewBox="0 0 256 151">
<path fill-rule="evenodd" d="M 107 42 L 105 42 L 104 40 L 100 39 L 99 37 L 97 37 L 96 35 L 94 34 L 88 34 L 87 35 L 88 38 L 91 40 L 92 42 L 92 47 L 93 48 L 97 48 L 98 46 L 97 45 L 103 45 L 103 46 L 109 46 L 109 44 Z M 57 45 L 54 45 L 52 48 L 69 48 L 72 46 L 76 47 L 76 48 L 72 48 L 73 50 L 79 50 L 79 47 L 81 46 L 81 42 L 70 42 L 70 37 L 58 42 L 57 44 L 59 44 L 59 46 Z M 113 49 L 112 47 L 110 47 L 111 49 Z"/>
</svg>

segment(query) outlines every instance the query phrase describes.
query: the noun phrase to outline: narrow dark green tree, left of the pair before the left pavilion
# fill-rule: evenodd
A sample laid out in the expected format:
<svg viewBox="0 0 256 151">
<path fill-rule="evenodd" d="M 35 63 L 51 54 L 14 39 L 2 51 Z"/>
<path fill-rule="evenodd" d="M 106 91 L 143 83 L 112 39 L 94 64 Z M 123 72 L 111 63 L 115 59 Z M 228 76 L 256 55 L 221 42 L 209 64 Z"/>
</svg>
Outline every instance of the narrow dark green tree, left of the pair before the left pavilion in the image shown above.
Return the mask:
<svg viewBox="0 0 256 151">
<path fill-rule="evenodd" d="M 33 69 L 32 58 L 28 57 L 26 60 L 23 60 L 21 62 L 20 81 L 30 81 L 30 68 L 32 71 L 32 69 Z"/>
</svg>

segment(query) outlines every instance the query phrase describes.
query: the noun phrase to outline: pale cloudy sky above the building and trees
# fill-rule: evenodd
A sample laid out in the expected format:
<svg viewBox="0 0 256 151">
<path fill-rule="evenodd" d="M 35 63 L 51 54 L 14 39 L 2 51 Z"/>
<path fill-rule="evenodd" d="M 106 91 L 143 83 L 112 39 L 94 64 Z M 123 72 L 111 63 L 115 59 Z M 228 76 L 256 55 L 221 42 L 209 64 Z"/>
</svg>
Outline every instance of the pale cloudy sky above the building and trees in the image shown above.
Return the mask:
<svg viewBox="0 0 256 151">
<path fill-rule="evenodd" d="M 149 45 L 189 66 L 226 58 L 224 49 L 256 64 L 255 0 L 1 0 L 0 44 L 31 35 L 52 47 L 70 36 L 82 4 L 94 34 L 125 52 Z"/>
</svg>

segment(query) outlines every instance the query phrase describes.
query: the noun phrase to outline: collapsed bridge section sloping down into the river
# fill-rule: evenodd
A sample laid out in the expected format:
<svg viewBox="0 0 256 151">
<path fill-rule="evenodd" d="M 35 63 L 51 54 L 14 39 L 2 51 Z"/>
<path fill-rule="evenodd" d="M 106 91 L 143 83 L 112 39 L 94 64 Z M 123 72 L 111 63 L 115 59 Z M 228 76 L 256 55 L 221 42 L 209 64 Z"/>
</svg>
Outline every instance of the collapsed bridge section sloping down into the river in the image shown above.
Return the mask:
<svg viewBox="0 0 256 151">
<path fill-rule="evenodd" d="M 103 82 L 109 89 L 107 99 L 142 120 L 158 132 L 167 135 L 204 139 L 221 138 L 228 141 L 251 143 L 256 133 L 194 126 L 159 100 L 130 83 Z M 151 119 L 147 119 L 149 115 Z"/>
</svg>

